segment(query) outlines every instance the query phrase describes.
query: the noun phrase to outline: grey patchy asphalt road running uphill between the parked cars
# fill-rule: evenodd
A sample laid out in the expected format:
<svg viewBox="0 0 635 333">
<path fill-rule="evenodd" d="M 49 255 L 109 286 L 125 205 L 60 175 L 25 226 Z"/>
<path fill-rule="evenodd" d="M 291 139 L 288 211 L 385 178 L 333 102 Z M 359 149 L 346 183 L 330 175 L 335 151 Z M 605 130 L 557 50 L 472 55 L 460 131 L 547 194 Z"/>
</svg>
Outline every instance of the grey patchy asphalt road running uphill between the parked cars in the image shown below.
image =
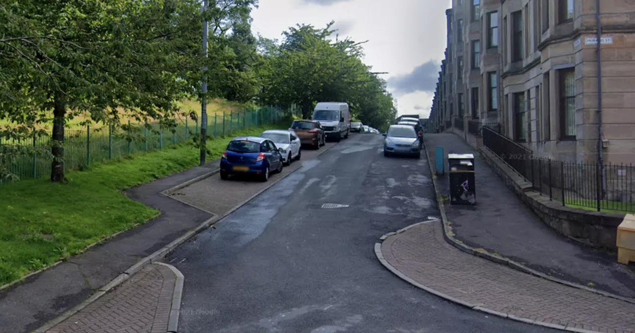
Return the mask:
<svg viewBox="0 0 635 333">
<path fill-rule="evenodd" d="M 385 270 L 378 238 L 438 209 L 425 159 L 386 158 L 381 144 L 351 136 L 173 252 L 166 262 L 185 275 L 179 331 L 552 332 L 468 310 Z"/>
</svg>

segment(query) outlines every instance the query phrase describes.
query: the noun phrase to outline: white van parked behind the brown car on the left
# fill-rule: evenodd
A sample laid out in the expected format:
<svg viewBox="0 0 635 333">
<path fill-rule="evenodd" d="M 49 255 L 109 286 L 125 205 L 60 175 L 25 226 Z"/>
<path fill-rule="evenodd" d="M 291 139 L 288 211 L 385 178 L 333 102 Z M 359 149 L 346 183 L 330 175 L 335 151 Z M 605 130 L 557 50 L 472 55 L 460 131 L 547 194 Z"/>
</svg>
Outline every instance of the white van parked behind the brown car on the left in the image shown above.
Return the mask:
<svg viewBox="0 0 635 333">
<path fill-rule="evenodd" d="M 313 120 L 319 121 L 326 136 L 340 141 L 349 137 L 351 112 L 349 103 L 321 101 L 313 111 Z"/>
</svg>

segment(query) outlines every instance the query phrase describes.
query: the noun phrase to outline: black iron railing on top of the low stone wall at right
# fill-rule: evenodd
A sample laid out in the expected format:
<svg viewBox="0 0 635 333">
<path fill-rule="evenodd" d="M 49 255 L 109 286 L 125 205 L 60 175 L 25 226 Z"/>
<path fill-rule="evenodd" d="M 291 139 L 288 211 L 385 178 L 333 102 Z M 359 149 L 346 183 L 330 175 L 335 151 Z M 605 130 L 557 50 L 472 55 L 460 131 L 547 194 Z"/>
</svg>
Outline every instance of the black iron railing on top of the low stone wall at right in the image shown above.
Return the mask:
<svg viewBox="0 0 635 333">
<path fill-rule="evenodd" d="M 488 127 L 483 145 L 531 183 L 533 190 L 563 206 L 605 212 L 635 212 L 632 164 L 586 164 L 537 157 Z"/>
</svg>

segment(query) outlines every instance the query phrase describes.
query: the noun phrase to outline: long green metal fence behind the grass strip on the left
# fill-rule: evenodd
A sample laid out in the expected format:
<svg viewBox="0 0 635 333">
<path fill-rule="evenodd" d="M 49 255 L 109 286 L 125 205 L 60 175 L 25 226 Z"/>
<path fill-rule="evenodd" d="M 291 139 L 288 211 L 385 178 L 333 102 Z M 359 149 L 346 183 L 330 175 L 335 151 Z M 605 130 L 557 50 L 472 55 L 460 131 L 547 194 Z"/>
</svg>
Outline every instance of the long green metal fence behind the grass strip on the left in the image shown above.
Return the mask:
<svg viewBox="0 0 635 333">
<path fill-rule="evenodd" d="M 253 110 L 241 110 L 231 114 L 210 115 L 207 119 L 208 136 L 225 136 L 234 131 L 250 127 L 275 124 L 288 116 L 287 112 L 277 107 L 262 107 Z M 91 128 L 82 130 L 65 130 L 64 167 L 69 170 L 83 170 L 91 164 L 116 159 L 124 155 L 152 152 L 171 145 L 178 145 L 192 140 L 200 133 L 199 121 L 186 117 L 177 119 L 178 125 L 173 129 L 160 129 L 159 124 L 131 126 L 130 133 L 113 127 Z M 154 129 L 154 130 L 153 130 Z M 132 140 L 129 140 L 132 139 Z M 20 142 L 3 142 L 0 138 L 0 149 L 3 145 L 22 145 L 50 151 L 50 136 L 34 136 Z M 29 154 L 17 157 L 9 167 L 11 173 L 21 180 L 48 178 L 51 173 L 50 157 L 43 154 Z M 2 181 L 0 180 L 0 185 Z"/>
</svg>

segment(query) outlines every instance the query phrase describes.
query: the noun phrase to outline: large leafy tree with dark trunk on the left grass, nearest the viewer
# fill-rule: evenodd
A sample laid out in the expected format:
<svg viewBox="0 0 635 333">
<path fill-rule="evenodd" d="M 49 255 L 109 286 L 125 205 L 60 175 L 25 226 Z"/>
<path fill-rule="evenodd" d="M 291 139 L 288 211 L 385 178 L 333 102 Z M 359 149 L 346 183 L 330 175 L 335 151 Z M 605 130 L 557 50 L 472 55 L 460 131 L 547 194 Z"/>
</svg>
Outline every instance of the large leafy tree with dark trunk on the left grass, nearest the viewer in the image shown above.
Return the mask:
<svg viewBox="0 0 635 333">
<path fill-rule="evenodd" d="M 3 98 L 18 124 L 47 121 L 53 110 L 51 180 L 64 181 L 64 127 L 88 113 L 119 124 L 121 112 L 140 121 L 173 123 L 175 101 L 197 77 L 202 20 L 196 0 L 20 0 L 0 15 L 27 23 L 10 27 L 0 61 L 17 65 L 2 77 Z M 4 68 L 4 66 L 3 66 Z M 15 133 L 15 131 L 14 131 Z"/>
</svg>

